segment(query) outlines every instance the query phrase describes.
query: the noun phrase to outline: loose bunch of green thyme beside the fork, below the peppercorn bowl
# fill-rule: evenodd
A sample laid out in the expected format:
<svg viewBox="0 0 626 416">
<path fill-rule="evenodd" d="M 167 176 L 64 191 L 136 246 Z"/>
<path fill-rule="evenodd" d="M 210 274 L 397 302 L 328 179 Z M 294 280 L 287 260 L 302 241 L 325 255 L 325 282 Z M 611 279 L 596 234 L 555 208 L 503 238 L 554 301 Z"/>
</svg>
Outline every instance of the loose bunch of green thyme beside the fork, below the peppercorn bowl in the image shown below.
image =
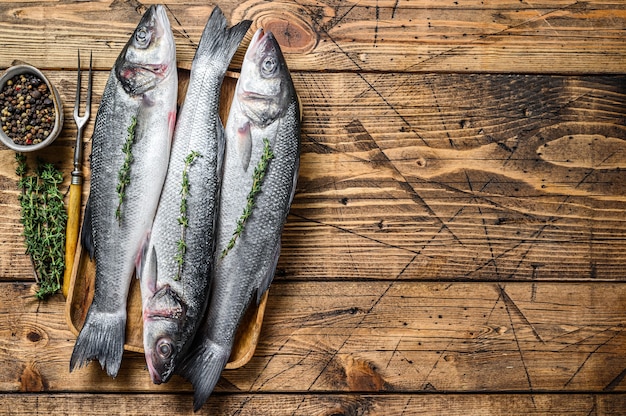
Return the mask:
<svg viewBox="0 0 626 416">
<path fill-rule="evenodd" d="M 63 175 L 52 163 L 39 161 L 34 175 L 27 175 L 26 156 L 15 155 L 20 178 L 18 197 L 24 225 L 26 254 L 31 256 L 39 290 L 35 296 L 45 299 L 61 288 L 65 268 L 65 226 L 67 212 L 59 186 Z"/>
</svg>

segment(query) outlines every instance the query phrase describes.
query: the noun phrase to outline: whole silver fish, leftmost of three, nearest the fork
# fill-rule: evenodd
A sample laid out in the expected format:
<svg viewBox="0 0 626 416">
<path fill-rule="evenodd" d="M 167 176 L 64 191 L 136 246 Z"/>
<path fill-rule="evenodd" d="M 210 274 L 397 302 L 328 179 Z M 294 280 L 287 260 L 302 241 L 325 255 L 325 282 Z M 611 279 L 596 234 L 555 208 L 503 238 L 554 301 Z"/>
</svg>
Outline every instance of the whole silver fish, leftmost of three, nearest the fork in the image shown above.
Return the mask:
<svg viewBox="0 0 626 416">
<path fill-rule="evenodd" d="M 151 6 L 115 61 L 96 116 L 81 243 L 95 259 L 93 302 L 70 371 L 97 359 L 115 377 L 126 302 L 167 172 L 176 120 L 176 47 L 163 6 Z"/>
</svg>

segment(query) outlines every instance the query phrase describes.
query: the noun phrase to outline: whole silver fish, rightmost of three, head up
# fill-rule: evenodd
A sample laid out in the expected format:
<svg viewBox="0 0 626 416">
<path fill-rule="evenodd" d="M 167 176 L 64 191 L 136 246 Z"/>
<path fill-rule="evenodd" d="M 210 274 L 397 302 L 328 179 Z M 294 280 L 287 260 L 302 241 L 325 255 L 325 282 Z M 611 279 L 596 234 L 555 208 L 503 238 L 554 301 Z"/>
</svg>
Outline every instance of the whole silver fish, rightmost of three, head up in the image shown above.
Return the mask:
<svg viewBox="0 0 626 416">
<path fill-rule="evenodd" d="M 259 29 L 246 51 L 226 124 L 209 306 L 178 371 L 194 386 L 195 410 L 226 366 L 246 309 L 259 303 L 273 280 L 299 157 L 298 98 L 276 39 Z"/>
</svg>

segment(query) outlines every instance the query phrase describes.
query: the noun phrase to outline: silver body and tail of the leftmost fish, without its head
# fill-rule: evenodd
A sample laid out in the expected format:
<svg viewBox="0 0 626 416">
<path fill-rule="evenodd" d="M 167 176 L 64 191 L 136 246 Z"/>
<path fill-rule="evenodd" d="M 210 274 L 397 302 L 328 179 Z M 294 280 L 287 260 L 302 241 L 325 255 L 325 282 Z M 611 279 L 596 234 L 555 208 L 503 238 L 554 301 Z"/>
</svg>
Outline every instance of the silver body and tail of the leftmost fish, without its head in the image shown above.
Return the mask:
<svg viewBox="0 0 626 416">
<path fill-rule="evenodd" d="M 167 170 L 177 88 L 177 77 L 170 74 L 131 97 L 115 73 L 116 67 L 103 92 L 92 136 L 91 190 L 82 230 L 82 243 L 93 250 L 96 262 L 94 297 L 70 359 L 72 370 L 97 358 L 112 377 L 122 359 L 130 281 Z M 118 219 L 118 172 L 124 165 L 123 147 L 133 116 L 137 120 L 133 161 Z"/>
</svg>

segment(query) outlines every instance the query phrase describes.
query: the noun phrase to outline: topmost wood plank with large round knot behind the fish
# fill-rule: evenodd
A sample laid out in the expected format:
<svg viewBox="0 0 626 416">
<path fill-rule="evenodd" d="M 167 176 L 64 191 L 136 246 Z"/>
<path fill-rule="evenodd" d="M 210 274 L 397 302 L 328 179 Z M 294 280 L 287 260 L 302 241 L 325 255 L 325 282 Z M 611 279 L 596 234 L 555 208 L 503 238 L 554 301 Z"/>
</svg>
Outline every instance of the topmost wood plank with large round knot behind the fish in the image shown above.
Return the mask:
<svg viewBox="0 0 626 416">
<path fill-rule="evenodd" d="M 212 4 L 167 4 L 179 64 L 189 68 Z M 626 4 L 478 0 L 459 2 L 222 1 L 231 22 L 273 30 L 295 71 L 623 73 Z M 139 21 L 138 2 L 0 3 L 0 67 L 14 59 L 68 68 L 77 49 L 109 68 Z M 245 46 L 245 44 L 244 44 Z M 240 50 L 233 62 L 239 67 Z"/>
</svg>

